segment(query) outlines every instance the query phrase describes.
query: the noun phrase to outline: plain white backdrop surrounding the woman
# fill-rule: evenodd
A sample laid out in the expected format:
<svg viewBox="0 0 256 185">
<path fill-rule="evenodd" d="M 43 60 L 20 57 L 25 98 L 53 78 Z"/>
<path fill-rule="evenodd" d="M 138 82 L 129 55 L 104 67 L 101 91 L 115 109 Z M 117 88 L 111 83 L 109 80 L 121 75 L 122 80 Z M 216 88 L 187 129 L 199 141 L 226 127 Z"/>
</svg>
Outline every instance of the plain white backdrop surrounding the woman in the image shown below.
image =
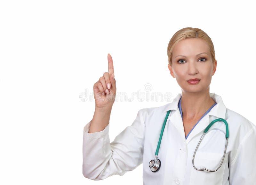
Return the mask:
<svg viewBox="0 0 256 185">
<path fill-rule="evenodd" d="M 142 165 L 84 178 L 83 127 L 95 102 L 80 95 L 92 95 L 110 53 L 117 93 L 130 98 L 150 84 L 149 94 L 169 92 L 172 100 L 181 89 L 167 68 L 167 45 L 184 27 L 213 41 L 210 92 L 255 124 L 255 14 L 249 1 L 1 1 L 0 184 L 142 184 Z M 169 102 L 116 100 L 110 141 L 141 108 Z"/>
</svg>

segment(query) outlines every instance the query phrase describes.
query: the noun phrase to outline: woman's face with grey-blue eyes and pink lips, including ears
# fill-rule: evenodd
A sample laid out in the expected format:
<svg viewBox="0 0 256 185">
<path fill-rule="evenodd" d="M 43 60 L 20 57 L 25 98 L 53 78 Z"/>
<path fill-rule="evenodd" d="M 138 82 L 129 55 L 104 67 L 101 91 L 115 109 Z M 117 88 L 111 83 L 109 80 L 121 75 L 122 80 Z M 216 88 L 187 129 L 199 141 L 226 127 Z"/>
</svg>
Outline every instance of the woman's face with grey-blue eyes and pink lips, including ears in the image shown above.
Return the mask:
<svg viewBox="0 0 256 185">
<path fill-rule="evenodd" d="M 194 93 L 210 88 L 216 66 L 217 60 L 212 62 L 209 46 L 200 38 L 179 41 L 172 51 L 172 66 L 168 64 L 172 77 L 176 78 L 181 89 Z M 194 78 L 200 79 L 199 82 L 196 84 L 188 82 L 189 79 Z"/>
</svg>

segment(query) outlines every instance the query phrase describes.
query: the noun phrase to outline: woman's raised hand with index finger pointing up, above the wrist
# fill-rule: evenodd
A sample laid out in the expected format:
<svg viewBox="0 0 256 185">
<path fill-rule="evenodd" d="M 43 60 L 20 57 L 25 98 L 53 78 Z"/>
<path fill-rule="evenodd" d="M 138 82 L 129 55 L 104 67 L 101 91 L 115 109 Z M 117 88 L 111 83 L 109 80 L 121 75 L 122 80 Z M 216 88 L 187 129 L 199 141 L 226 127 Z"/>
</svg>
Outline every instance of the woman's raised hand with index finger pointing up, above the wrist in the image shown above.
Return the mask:
<svg viewBox="0 0 256 185">
<path fill-rule="evenodd" d="M 96 108 L 112 108 L 116 98 L 116 79 L 113 60 L 108 54 L 108 72 L 103 73 L 99 81 L 93 85 L 93 96 Z"/>
</svg>

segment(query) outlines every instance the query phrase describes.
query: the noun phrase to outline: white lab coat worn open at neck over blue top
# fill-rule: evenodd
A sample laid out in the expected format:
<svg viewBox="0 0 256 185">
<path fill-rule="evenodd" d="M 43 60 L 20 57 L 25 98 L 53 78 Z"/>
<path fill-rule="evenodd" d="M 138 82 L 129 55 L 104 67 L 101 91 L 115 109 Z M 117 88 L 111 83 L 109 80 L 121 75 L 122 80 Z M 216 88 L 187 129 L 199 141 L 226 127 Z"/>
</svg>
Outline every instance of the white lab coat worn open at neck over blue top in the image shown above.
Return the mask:
<svg viewBox="0 0 256 185">
<path fill-rule="evenodd" d="M 132 125 L 127 126 L 113 142 L 109 140 L 109 124 L 101 132 L 88 133 L 91 121 L 84 126 L 83 165 L 84 177 L 102 180 L 113 174 L 126 172 L 143 164 L 144 185 L 252 185 L 256 184 L 256 126 L 240 114 L 229 110 L 219 95 L 210 93 L 217 103 L 185 139 L 178 102 L 138 111 Z M 148 163 L 154 159 L 164 118 L 166 122 L 158 159 L 160 169 L 151 172 Z M 216 172 L 198 171 L 192 165 L 195 148 L 204 129 L 214 119 L 228 122 L 229 139 L 222 166 Z M 202 140 L 195 157 L 195 166 L 214 170 L 224 153 L 226 134 L 223 122 L 216 122 Z M 138 183 L 139 184 L 139 183 Z"/>
</svg>

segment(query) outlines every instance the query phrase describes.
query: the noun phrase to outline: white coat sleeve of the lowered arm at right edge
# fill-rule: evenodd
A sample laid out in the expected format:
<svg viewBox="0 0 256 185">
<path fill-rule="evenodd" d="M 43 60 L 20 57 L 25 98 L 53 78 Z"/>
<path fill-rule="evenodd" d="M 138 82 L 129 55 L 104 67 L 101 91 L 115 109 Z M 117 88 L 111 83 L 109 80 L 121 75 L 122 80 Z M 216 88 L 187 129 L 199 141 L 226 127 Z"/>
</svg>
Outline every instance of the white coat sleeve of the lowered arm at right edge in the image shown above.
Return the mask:
<svg viewBox="0 0 256 185">
<path fill-rule="evenodd" d="M 252 124 L 253 125 L 253 124 Z M 236 157 L 229 163 L 230 185 L 255 184 L 256 181 L 256 126 L 244 136 Z"/>
</svg>

